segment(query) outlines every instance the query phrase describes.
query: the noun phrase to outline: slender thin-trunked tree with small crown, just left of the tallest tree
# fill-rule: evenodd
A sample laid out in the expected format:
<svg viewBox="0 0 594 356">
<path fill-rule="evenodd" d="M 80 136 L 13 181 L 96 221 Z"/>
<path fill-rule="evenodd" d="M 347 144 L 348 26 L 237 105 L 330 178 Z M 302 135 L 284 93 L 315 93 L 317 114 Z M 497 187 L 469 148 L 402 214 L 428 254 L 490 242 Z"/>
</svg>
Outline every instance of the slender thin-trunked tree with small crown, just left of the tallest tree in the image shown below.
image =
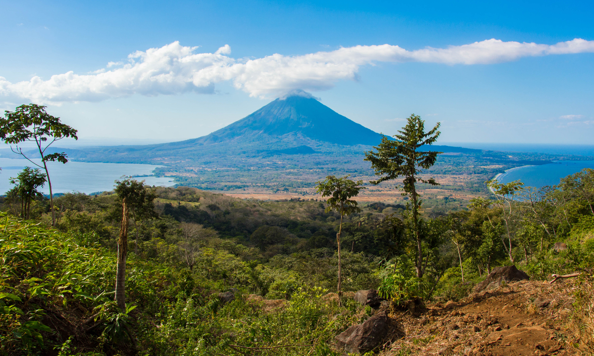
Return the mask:
<svg viewBox="0 0 594 356">
<path fill-rule="evenodd" d="M 336 234 L 336 243 L 338 245 L 338 285 L 336 290 L 339 295 L 339 304 L 340 297 L 342 297 L 342 291 L 340 290 L 342 284 L 342 261 L 340 259 L 340 234 L 342 233 L 342 217 L 350 215 L 353 212 L 361 211 L 361 208 L 357 206 L 357 202 L 355 200 L 351 200 L 350 198 L 357 196 L 361 189 L 365 189 L 365 187 L 361 187 L 363 184 L 362 180 L 353 182 L 348 178 L 349 176 L 342 178 L 337 178 L 336 176 L 327 176 L 326 180 L 324 180 L 324 182 L 318 182 L 316 187 L 318 193 L 320 193 L 323 198 L 326 196 L 332 196 L 326 201 L 328 204 L 326 212 L 334 210 L 340 214 L 340 225 L 338 233 Z"/>
</svg>

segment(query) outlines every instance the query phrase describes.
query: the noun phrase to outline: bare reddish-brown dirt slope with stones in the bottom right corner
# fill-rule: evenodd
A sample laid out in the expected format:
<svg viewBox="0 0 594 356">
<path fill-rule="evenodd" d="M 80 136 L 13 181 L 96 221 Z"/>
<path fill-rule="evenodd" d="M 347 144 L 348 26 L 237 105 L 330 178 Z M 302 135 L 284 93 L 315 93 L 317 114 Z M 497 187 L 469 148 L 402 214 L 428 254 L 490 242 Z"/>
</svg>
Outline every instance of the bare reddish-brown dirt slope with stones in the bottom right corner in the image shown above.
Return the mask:
<svg viewBox="0 0 594 356">
<path fill-rule="evenodd" d="M 380 356 L 591 355 L 593 291 L 591 279 L 519 281 L 416 316 L 393 310 L 402 337 Z"/>
</svg>

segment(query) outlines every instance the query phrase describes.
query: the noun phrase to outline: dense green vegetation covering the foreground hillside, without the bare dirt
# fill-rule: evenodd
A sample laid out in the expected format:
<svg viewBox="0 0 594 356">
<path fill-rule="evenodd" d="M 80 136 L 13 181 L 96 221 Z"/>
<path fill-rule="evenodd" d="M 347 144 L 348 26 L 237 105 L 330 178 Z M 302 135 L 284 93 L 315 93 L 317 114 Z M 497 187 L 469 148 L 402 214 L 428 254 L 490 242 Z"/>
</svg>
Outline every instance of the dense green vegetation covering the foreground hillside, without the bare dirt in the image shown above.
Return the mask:
<svg viewBox="0 0 594 356">
<path fill-rule="evenodd" d="M 342 288 L 379 288 L 397 308 L 457 300 L 494 266 L 514 263 L 536 279 L 591 273 L 593 180 L 584 170 L 447 214 L 421 209 L 422 278 L 406 206 L 361 206 L 343 220 Z M 325 202 L 145 189 L 155 214 L 131 217 L 126 310 L 113 301 L 116 193 L 56 197 L 56 228 L 47 199 L 36 196 L 25 221 L 20 196 L 3 198 L 0 352 L 333 355 L 333 336 L 369 312 L 332 294 L 340 217 Z M 235 299 L 224 303 L 227 291 Z"/>
</svg>

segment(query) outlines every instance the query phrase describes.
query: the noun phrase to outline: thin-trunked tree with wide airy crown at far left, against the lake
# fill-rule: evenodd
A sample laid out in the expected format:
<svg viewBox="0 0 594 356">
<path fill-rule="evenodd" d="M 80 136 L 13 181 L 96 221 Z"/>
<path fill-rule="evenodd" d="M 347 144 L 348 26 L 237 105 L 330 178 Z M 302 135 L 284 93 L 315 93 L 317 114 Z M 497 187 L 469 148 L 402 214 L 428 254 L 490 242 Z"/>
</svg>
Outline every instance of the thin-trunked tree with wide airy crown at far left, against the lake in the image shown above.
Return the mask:
<svg viewBox="0 0 594 356">
<path fill-rule="evenodd" d="M 52 211 L 52 226 L 56 225 L 56 212 L 53 208 L 52 181 L 49 179 L 48 162 L 58 161 L 67 163 L 65 152 L 54 152 L 46 154 L 53 142 L 65 137 L 78 139 L 77 130 L 60 122 L 59 117 L 49 115 L 45 111 L 46 106 L 36 104 L 18 106 L 15 112 L 5 111 L 4 117 L 0 118 L 0 139 L 7 144 L 15 144 L 16 148 L 11 150 L 22 155 L 35 166 L 45 170 L 49 185 L 49 204 Z M 35 142 L 37 151 L 41 157 L 42 165 L 33 162 L 23 152 L 18 144 L 25 141 Z"/>
</svg>

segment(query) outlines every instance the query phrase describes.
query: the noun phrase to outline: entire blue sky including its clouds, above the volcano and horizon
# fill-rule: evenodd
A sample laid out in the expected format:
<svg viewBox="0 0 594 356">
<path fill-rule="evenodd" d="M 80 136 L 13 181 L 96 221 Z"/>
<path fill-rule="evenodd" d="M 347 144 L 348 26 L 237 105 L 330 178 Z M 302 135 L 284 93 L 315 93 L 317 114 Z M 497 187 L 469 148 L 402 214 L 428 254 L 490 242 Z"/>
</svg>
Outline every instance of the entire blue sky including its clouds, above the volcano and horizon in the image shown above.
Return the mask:
<svg viewBox="0 0 594 356">
<path fill-rule="evenodd" d="M 443 142 L 592 144 L 593 9 L 0 1 L 0 108 L 45 103 L 79 129 L 81 144 L 166 142 L 206 135 L 301 88 L 389 135 L 416 113 L 442 123 Z M 172 56 L 191 63 L 163 65 Z M 142 79 L 169 72 L 165 82 Z"/>
</svg>

